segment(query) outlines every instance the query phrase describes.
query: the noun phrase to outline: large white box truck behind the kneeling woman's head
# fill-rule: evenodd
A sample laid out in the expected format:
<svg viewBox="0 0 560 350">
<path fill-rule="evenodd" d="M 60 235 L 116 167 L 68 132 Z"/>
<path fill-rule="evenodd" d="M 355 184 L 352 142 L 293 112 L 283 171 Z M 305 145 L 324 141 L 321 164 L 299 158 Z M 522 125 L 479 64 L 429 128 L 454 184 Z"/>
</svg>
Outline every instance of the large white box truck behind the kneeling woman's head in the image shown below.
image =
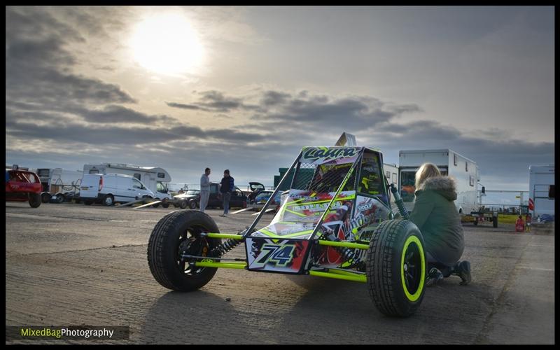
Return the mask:
<svg viewBox="0 0 560 350">
<path fill-rule="evenodd" d="M 405 202 L 405 208 L 414 208 L 414 176 L 423 163 L 433 163 L 443 175 L 455 179 L 457 185 L 457 200 L 455 206 L 461 215 L 470 215 L 478 211 L 477 184 L 479 169 L 477 163 L 450 149 L 400 151 L 399 158 L 399 186 L 400 196 Z"/>
</svg>

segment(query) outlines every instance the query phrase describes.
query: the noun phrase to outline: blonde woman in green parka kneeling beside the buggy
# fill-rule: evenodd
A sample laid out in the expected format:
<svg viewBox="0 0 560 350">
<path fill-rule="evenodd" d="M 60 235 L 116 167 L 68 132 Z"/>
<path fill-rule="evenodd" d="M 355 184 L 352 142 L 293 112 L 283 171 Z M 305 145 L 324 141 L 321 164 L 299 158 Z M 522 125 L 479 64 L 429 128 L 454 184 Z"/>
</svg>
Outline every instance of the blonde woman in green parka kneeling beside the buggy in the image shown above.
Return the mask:
<svg viewBox="0 0 560 350">
<path fill-rule="evenodd" d="M 459 261 L 465 243 L 461 218 L 454 201 L 456 184 L 449 176 L 442 176 L 431 163 L 424 163 L 416 172 L 416 200 L 410 221 L 422 232 L 426 246 L 428 279 L 426 286 L 456 274 L 461 284 L 470 283 L 470 262 Z"/>
</svg>

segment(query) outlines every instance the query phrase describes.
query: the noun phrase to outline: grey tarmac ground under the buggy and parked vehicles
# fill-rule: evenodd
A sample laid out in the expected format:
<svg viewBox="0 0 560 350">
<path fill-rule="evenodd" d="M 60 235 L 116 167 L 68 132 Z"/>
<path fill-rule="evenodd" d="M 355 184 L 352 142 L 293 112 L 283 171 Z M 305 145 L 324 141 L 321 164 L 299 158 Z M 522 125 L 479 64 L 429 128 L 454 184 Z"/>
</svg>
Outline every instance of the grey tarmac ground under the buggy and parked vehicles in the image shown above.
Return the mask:
<svg viewBox="0 0 560 350">
<path fill-rule="evenodd" d="M 464 224 L 472 283 L 451 276 L 426 289 L 416 314 L 390 318 L 364 283 L 314 276 L 218 269 L 200 290 L 167 290 L 146 248 L 174 210 L 6 202 L 6 326 L 130 326 L 118 344 L 554 344 L 554 228 Z M 207 214 L 228 233 L 255 218 Z M 243 246 L 228 257 L 244 258 Z M 6 339 L 60 342 L 108 343 Z"/>
</svg>

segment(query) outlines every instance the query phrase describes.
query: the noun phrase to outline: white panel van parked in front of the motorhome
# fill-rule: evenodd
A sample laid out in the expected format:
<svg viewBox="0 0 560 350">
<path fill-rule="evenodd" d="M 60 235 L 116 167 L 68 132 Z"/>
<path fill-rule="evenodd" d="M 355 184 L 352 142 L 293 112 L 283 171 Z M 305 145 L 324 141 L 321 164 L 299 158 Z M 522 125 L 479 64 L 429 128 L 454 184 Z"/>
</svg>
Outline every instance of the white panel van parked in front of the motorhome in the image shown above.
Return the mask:
<svg viewBox="0 0 560 350">
<path fill-rule="evenodd" d="M 109 206 L 115 202 L 127 203 L 142 197 L 154 198 L 152 190 L 128 175 L 83 174 L 80 183 L 80 199 L 87 205 L 101 202 Z"/>
</svg>

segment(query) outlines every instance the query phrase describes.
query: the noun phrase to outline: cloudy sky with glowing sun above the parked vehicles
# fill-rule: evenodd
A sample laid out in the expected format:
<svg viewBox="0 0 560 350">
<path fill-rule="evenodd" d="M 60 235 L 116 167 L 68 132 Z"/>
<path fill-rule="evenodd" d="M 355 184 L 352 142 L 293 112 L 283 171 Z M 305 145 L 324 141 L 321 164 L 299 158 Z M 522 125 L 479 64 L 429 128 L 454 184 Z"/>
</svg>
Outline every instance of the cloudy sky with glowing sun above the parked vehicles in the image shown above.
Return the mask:
<svg viewBox="0 0 560 350">
<path fill-rule="evenodd" d="M 6 7 L 6 165 L 272 186 L 342 132 L 528 190 L 554 163 L 554 7 Z"/>
</svg>

